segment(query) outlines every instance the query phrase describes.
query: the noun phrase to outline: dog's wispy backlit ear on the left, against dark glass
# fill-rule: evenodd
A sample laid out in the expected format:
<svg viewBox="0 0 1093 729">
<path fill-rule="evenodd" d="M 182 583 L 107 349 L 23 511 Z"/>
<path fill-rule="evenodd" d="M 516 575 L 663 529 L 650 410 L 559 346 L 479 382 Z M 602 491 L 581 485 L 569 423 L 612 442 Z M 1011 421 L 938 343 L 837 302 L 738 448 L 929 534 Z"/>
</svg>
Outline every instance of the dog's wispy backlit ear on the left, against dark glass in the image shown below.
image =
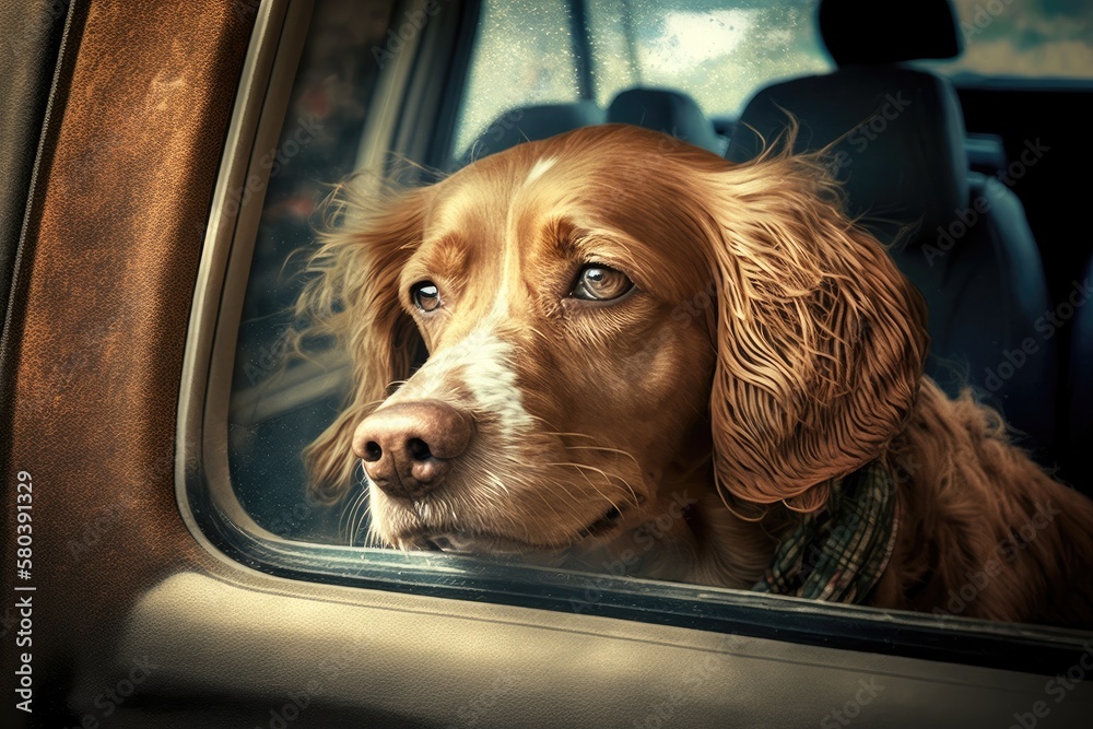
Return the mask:
<svg viewBox="0 0 1093 729">
<path fill-rule="evenodd" d="M 333 503 L 353 479 L 353 432 L 386 396 L 392 383 L 410 377 L 424 343 L 399 299 L 399 275 L 420 246 L 426 189 L 354 191 L 332 197 L 322 245 L 312 257 L 312 274 L 296 304 L 308 338 L 330 336 L 353 361 L 349 402 L 338 419 L 304 450 L 308 491 Z"/>
</svg>

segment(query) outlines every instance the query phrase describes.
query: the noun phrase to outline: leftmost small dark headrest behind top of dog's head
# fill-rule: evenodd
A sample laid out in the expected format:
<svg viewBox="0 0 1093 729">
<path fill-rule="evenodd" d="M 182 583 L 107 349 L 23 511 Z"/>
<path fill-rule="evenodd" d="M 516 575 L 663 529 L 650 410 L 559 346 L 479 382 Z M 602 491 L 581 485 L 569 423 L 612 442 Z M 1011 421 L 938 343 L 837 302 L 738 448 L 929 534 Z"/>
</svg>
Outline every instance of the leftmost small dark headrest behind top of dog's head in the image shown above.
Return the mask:
<svg viewBox="0 0 1093 729">
<path fill-rule="evenodd" d="M 505 111 L 486 127 L 460 164 L 507 150 L 520 142 L 548 139 L 564 131 L 603 124 L 606 120 L 603 109 L 589 99 L 516 107 Z"/>
</svg>

